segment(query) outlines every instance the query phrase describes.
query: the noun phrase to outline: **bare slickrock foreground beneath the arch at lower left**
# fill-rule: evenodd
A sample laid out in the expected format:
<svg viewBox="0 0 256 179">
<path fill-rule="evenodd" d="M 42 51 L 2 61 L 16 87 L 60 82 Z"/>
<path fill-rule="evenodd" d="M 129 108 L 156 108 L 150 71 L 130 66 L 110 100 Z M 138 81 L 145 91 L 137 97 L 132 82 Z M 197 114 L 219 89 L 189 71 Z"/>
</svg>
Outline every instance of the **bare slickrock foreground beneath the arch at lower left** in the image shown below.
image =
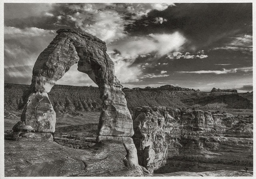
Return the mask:
<svg viewBox="0 0 256 179">
<path fill-rule="evenodd" d="M 140 167 L 128 168 L 123 143 L 104 142 L 82 150 L 55 142 L 5 140 L 6 177 L 148 176 Z"/>
</svg>

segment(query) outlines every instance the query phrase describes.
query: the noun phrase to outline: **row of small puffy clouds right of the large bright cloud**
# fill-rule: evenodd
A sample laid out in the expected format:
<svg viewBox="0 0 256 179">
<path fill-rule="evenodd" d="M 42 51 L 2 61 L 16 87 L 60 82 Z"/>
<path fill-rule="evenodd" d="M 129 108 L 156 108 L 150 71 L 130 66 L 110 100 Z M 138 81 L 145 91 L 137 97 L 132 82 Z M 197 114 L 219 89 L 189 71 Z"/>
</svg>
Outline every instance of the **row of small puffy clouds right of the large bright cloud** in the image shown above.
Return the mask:
<svg viewBox="0 0 256 179">
<path fill-rule="evenodd" d="M 181 53 L 181 52 L 172 52 L 172 53 L 168 53 L 166 58 L 169 59 L 180 59 L 180 58 L 184 58 L 184 59 L 190 59 L 190 58 L 207 58 L 207 55 L 204 55 L 204 50 L 200 50 L 198 51 L 196 54 L 190 54 L 189 52 L 186 52 L 185 54 Z"/>
</svg>

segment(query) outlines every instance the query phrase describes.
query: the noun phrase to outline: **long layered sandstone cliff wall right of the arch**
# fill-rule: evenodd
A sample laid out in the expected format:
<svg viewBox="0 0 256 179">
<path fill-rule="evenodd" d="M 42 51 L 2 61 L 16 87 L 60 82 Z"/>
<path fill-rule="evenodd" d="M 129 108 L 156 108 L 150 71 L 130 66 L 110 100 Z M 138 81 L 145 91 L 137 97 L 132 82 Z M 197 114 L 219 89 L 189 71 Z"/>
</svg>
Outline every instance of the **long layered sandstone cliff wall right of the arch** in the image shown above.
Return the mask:
<svg viewBox="0 0 256 179">
<path fill-rule="evenodd" d="M 252 169 L 251 117 L 142 106 L 133 120 L 139 164 L 151 172 Z"/>
</svg>

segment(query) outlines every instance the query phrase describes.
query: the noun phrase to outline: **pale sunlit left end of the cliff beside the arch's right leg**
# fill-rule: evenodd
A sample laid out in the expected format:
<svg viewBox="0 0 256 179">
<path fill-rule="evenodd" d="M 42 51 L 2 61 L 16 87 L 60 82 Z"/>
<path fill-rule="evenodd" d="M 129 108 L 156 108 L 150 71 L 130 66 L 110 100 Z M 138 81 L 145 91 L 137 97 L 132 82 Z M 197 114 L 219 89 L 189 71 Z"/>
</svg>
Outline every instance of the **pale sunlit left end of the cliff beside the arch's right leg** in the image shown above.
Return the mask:
<svg viewBox="0 0 256 179">
<path fill-rule="evenodd" d="M 138 151 L 139 164 L 153 173 L 166 162 L 168 146 L 180 135 L 180 111 L 166 107 L 138 107 L 133 114 L 134 144 Z M 176 124 L 176 126 L 175 126 Z M 170 136 L 171 135 L 171 136 Z M 177 135 L 175 137 L 175 135 Z"/>
</svg>

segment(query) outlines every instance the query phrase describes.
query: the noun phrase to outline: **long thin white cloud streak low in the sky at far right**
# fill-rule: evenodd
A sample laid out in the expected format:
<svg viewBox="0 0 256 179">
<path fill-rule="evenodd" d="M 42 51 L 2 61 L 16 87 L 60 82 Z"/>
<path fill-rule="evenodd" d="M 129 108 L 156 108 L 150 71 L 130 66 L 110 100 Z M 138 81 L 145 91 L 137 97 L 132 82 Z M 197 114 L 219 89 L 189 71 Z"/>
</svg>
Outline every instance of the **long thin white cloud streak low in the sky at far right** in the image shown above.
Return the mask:
<svg viewBox="0 0 256 179">
<path fill-rule="evenodd" d="M 223 68 L 222 70 L 200 70 L 200 71 L 194 71 L 194 72 L 183 72 L 180 71 L 178 73 L 187 73 L 187 74 L 228 74 L 228 73 L 236 73 L 237 71 L 243 71 L 243 72 L 251 72 L 252 67 L 243 67 L 243 68 L 233 68 L 230 70 L 226 70 Z"/>
</svg>

